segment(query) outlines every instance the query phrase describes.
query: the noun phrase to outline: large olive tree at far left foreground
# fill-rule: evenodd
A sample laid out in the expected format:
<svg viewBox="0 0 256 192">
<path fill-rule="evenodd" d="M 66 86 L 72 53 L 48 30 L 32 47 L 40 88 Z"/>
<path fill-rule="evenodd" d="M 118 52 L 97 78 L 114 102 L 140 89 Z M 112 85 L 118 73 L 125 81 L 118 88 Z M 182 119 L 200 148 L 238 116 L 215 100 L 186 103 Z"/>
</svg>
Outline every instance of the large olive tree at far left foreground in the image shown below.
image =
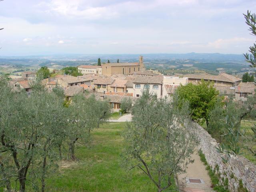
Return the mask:
<svg viewBox="0 0 256 192">
<path fill-rule="evenodd" d="M 58 97 L 48 92 L 39 78 L 32 83 L 32 89 L 28 97 L 24 91 L 18 94 L 8 84 L 1 84 L 1 90 L 11 90 L 1 92 L 1 102 L 7 107 L 6 112 L 0 112 L 1 150 L 5 153 L 1 157 L 14 170 L 9 178 L 16 178 L 20 192 L 25 191 L 27 181 L 38 190 L 35 178 L 40 178 L 44 191 L 44 178 L 50 168 L 47 159 L 54 162 L 50 154 L 64 122 Z"/>
</svg>

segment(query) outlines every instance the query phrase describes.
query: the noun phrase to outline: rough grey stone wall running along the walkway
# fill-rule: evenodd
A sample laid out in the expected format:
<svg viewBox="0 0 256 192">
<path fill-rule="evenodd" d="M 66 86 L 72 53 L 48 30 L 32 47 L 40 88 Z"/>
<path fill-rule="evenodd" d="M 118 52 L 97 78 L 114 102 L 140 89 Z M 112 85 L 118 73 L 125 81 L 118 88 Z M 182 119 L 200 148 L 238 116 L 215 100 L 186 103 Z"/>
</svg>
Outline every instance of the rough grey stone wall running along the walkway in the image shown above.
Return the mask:
<svg viewBox="0 0 256 192">
<path fill-rule="evenodd" d="M 193 131 L 200 141 L 198 148 L 201 148 L 208 164 L 220 175 L 220 182 L 228 179 L 230 192 L 237 192 L 239 181 L 242 180 L 244 188 L 248 192 L 256 192 L 256 166 L 242 156 L 232 156 L 227 164 L 222 162 L 224 154 L 217 152 L 218 143 L 200 125 L 192 122 L 190 130 Z"/>
</svg>

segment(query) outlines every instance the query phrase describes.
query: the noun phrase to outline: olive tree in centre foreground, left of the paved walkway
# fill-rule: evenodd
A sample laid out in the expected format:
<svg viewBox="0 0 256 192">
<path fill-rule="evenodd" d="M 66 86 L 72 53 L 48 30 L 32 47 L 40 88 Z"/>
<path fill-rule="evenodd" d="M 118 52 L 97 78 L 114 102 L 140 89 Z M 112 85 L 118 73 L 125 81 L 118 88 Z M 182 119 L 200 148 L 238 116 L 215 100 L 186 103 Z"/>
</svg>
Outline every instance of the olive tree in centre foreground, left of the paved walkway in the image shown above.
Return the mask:
<svg viewBox="0 0 256 192">
<path fill-rule="evenodd" d="M 132 122 L 127 123 L 122 153 L 125 166 L 148 176 L 158 192 L 174 184 L 173 177 L 193 162 L 196 138 L 182 124 L 189 120 L 188 103 L 179 109 L 174 100 L 158 100 L 148 90 L 136 101 Z"/>
</svg>

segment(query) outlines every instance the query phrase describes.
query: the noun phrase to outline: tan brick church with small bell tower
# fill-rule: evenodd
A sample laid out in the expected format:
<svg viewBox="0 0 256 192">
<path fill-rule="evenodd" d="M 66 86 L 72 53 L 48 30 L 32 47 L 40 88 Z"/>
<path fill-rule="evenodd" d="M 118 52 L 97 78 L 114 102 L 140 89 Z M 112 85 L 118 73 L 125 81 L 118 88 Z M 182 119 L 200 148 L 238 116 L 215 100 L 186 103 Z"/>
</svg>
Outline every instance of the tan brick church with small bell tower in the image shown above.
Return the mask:
<svg viewBox="0 0 256 192">
<path fill-rule="evenodd" d="M 132 72 L 145 71 L 143 56 L 139 57 L 139 62 L 135 63 L 105 63 L 102 64 L 102 74 L 112 76 L 114 74 L 128 75 Z"/>
</svg>

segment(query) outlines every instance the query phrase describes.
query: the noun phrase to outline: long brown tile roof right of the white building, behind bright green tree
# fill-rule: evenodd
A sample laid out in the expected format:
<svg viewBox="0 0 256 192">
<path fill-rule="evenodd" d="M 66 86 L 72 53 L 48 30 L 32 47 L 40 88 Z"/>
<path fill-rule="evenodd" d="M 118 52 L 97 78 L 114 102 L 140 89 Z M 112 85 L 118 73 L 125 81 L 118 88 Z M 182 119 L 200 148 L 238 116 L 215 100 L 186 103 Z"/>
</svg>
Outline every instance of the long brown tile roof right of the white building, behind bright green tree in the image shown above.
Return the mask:
<svg viewBox="0 0 256 192">
<path fill-rule="evenodd" d="M 234 83 L 236 81 L 241 80 L 240 78 L 237 78 L 235 76 L 229 75 L 229 74 L 219 74 L 219 75 L 211 75 L 211 74 L 187 74 L 185 77 L 188 77 L 189 79 L 204 79 L 204 80 L 211 80 L 211 81 L 222 81 L 222 82 L 230 82 Z"/>
</svg>

